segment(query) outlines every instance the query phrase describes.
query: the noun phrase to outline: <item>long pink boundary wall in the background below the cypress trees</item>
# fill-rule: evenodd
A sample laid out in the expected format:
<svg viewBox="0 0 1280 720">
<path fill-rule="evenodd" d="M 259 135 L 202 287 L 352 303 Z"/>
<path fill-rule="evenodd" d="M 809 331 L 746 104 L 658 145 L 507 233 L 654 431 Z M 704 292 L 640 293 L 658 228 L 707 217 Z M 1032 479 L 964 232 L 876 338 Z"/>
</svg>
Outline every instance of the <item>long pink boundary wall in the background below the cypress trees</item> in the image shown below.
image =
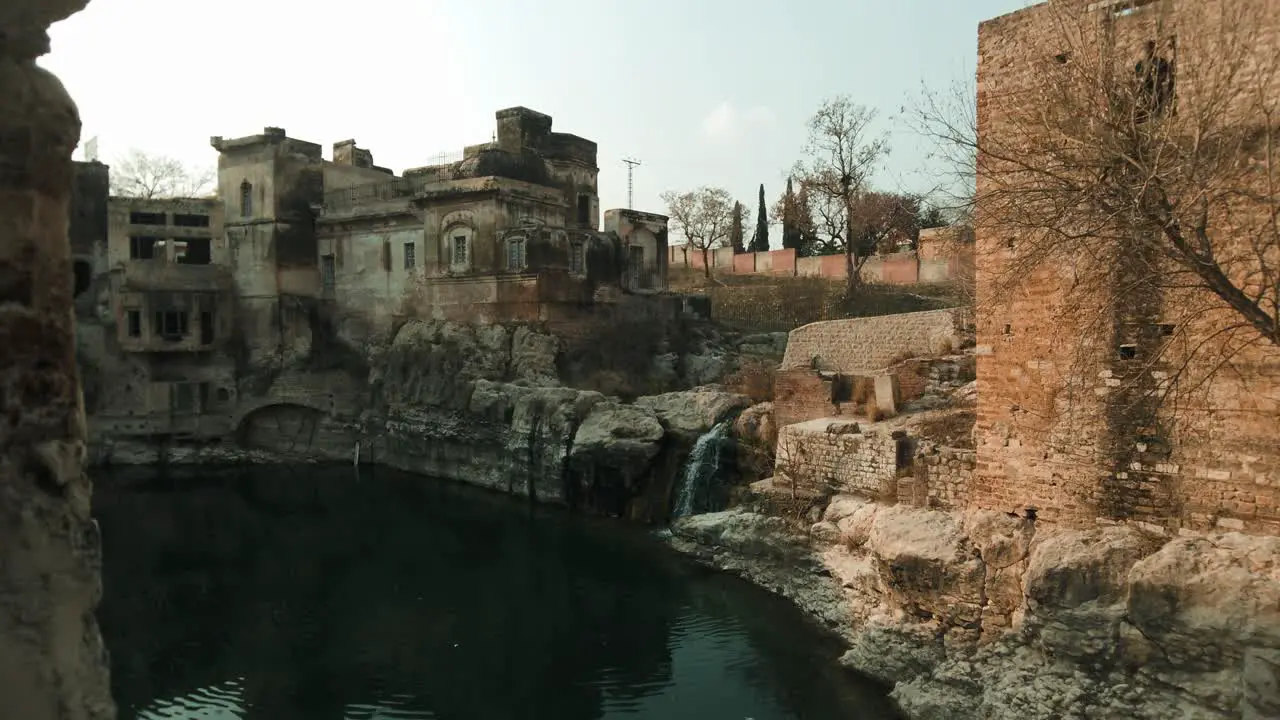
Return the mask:
<svg viewBox="0 0 1280 720">
<path fill-rule="evenodd" d="M 891 252 L 870 258 L 863 265 L 863 279 L 883 284 L 915 284 L 947 282 L 973 272 L 973 249 L 960 246 L 954 254 L 941 242 L 941 233 L 951 228 L 920 231 L 919 251 Z M 668 247 L 669 266 L 703 269 L 700 250 L 673 245 Z M 731 247 L 718 247 L 707 254 L 712 269 L 718 273 L 800 275 L 844 278 L 844 255 L 796 258 L 795 250 L 768 252 L 739 252 Z"/>
</svg>

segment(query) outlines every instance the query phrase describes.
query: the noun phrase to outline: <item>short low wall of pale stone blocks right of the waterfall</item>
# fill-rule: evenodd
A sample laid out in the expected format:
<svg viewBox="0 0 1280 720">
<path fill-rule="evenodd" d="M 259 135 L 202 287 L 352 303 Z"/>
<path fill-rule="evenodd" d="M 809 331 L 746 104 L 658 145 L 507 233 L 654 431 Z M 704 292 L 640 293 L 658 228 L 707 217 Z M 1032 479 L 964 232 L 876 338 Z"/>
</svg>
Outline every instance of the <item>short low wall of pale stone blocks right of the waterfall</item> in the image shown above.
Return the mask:
<svg viewBox="0 0 1280 720">
<path fill-rule="evenodd" d="M 806 493 L 896 493 L 899 439 L 856 423 L 812 420 L 778 430 L 774 477 Z"/>
</svg>

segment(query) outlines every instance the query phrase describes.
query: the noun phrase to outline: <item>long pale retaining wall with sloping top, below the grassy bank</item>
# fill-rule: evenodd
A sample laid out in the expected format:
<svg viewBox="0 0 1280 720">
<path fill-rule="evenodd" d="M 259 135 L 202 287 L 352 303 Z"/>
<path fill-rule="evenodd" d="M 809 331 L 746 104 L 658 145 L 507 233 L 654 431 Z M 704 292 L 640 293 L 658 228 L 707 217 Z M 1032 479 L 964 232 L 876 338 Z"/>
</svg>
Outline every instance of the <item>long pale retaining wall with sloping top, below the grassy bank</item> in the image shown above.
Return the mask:
<svg viewBox="0 0 1280 720">
<path fill-rule="evenodd" d="M 872 372 L 904 354 L 932 355 L 946 343 L 960 346 L 954 310 L 827 320 L 791 331 L 782 369 L 810 368 L 818 357 L 823 370 Z"/>
</svg>

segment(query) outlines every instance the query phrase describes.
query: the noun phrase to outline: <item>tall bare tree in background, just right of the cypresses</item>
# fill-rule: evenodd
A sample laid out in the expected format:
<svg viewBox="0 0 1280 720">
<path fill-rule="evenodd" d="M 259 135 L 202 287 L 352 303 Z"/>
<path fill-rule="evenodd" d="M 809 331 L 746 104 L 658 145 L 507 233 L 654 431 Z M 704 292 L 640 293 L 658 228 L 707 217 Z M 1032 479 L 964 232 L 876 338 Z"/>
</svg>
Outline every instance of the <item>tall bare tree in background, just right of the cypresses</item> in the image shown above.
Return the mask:
<svg viewBox="0 0 1280 720">
<path fill-rule="evenodd" d="M 876 110 L 858 105 L 849 96 L 823 101 L 809 119 L 809 140 L 795 177 L 808 192 L 814 224 L 828 243 L 845 254 L 849 290 L 861 283 L 861 268 L 869 256 L 855 241 L 851 205 L 867 192 L 870 176 L 888 154 L 888 141 L 876 135 Z"/>
</svg>

